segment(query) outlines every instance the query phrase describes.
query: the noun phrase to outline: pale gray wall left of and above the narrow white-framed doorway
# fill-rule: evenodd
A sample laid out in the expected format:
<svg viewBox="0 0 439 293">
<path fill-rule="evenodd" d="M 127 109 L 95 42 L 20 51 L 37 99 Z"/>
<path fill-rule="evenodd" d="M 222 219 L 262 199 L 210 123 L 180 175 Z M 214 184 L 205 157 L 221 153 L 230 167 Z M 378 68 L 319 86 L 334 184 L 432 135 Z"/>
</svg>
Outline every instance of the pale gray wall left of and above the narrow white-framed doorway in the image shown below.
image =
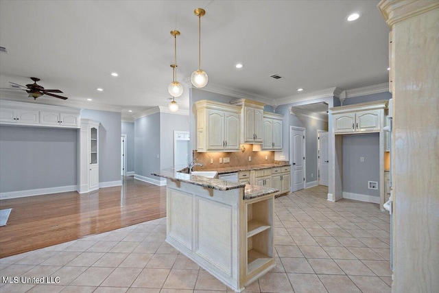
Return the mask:
<svg viewBox="0 0 439 293">
<path fill-rule="evenodd" d="M 174 166 L 174 130 L 189 131 L 189 116 L 160 113 L 161 169 Z"/>
</svg>

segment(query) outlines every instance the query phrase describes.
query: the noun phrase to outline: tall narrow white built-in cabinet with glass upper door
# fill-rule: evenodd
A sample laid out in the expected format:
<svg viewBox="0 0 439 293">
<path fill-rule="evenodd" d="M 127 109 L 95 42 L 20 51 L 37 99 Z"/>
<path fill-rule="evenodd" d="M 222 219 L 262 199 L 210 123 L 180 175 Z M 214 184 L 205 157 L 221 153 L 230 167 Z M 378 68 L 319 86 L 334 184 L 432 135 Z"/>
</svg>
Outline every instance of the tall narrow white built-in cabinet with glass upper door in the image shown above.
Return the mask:
<svg viewBox="0 0 439 293">
<path fill-rule="evenodd" d="M 99 189 L 99 122 L 81 119 L 78 192 Z"/>
</svg>

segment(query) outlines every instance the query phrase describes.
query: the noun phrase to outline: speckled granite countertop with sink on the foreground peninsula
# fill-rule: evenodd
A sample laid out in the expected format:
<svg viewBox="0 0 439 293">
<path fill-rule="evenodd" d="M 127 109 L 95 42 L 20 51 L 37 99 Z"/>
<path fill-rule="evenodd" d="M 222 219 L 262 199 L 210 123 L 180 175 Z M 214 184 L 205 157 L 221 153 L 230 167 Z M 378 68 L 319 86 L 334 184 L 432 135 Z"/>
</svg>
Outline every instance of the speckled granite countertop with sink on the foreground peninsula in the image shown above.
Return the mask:
<svg viewBox="0 0 439 293">
<path fill-rule="evenodd" d="M 217 190 L 230 190 L 236 188 L 244 188 L 244 200 L 250 200 L 259 196 L 265 196 L 267 194 L 274 194 L 278 192 L 278 189 L 270 187 L 262 187 L 257 185 L 246 185 L 244 183 L 238 183 L 228 180 L 220 180 L 217 178 L 207 178 L 202 176 L 196 176 L 192 174 L 180 173 L 176 169 L 169 168 L 161 170 L 160 172 L 152 173 L 154 176 L 163 177 L 171 180 L 177 180 L 193 185 L 199 185 L 202 187 L 208 187 Z"/>
</svg>

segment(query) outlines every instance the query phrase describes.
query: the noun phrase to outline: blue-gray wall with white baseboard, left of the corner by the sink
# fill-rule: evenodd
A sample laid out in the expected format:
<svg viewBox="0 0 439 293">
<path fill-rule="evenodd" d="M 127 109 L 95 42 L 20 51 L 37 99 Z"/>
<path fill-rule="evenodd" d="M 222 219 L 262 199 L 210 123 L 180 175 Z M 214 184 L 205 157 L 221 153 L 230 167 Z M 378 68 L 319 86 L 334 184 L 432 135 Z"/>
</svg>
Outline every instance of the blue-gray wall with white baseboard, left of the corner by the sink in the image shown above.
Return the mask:
<svg viewBox="0 0 439 293">
<path fill-rule="evenodd" d="M 160 167 L 160 113 L 134 121 L 134 172 L 137 175 L 160 180 L 152 176 Z"/>
</svg>

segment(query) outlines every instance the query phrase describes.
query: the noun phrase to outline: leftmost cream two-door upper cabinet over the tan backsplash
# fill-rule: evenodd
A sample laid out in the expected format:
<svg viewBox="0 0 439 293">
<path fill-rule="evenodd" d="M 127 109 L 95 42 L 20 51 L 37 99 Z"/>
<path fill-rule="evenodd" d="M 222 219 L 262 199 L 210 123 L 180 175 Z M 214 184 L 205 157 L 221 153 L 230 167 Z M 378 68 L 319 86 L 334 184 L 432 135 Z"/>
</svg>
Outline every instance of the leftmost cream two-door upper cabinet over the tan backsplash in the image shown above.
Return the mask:
<svg viewBox="0 0 439 293">
<path fill-rule="evenodd" d="M 197 108 L 197 151 L 236 152 L 239 150 L 241 107 L 206 99 Z"/>
</svg>

